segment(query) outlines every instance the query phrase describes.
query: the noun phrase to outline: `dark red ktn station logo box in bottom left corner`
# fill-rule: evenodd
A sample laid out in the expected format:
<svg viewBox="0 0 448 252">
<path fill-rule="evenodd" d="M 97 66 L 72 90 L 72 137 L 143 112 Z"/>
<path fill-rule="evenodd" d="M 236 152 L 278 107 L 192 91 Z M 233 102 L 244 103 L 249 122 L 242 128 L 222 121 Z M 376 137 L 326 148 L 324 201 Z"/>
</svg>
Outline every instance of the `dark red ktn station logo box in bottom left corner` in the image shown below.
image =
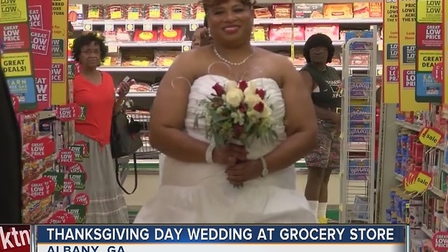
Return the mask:
<svg viewBox="0 0 448 252">
<path fill-rule="evenodd" d="M 0 251 L 29 252 L 33 234 L 30 225 L 0 225 Z"/>
</svg>

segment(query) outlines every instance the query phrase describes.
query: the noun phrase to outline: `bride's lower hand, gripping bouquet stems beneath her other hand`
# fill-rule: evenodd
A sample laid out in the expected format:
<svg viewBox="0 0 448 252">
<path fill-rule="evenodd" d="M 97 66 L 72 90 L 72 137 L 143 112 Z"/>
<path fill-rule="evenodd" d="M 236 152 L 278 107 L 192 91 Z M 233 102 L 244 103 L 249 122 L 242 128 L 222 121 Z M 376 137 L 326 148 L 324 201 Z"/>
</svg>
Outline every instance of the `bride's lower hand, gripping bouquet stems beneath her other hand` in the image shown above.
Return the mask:
<svg viewBox="0 0 448 252">
<path fill-rule="evenodd" d="M 227 179 L 232 185 L 241 185 L 251 179 L 258 179 L 262 174 L 262 169 L 261 160 L 248 160 L 228 167 L 225 173 L 227 173 Z"/>
</svg>

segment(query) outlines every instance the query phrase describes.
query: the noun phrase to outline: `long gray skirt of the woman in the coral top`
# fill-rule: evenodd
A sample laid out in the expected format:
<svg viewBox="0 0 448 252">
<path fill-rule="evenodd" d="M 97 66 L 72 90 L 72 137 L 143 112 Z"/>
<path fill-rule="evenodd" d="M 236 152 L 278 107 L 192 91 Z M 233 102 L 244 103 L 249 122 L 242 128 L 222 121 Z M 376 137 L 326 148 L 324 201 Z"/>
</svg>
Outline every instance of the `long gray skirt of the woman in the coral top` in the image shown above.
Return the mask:
<svg viewBox="0 0 448 252">
<path fill-rule="evenodd" d="M 123 191 L 117 184 L 115 162 L 111 156 L 111 146 L 100 146 L 97 141 L 76 132 L 76 141 L 89 144 L 89 158 L 83 159 L 87 173 L 85 189 L 80 191 L 90 197 L 86 223 L 121 224 L 129 223 L 127 204 Z"/>
</svg>

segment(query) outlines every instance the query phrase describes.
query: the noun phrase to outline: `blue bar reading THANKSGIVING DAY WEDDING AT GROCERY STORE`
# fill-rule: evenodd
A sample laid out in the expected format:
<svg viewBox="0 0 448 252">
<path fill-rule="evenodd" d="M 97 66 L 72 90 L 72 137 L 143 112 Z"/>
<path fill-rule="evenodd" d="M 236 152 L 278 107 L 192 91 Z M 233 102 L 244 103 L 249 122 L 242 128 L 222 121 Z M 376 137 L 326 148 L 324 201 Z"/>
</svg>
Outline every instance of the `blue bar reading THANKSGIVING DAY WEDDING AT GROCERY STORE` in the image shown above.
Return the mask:
<svg viewBox="0 0 448 252">
<path fill-rule="evenodd" d="M 403 244 L 405 225 L 39 225 L 38 243 Z"/>
</svg>

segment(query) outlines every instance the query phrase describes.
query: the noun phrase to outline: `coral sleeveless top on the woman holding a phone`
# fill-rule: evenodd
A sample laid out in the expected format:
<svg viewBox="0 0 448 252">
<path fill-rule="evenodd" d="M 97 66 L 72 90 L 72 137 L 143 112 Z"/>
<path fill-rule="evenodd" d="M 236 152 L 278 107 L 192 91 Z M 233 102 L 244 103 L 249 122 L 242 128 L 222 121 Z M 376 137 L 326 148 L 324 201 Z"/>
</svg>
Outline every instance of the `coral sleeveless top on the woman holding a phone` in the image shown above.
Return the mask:
<svg viewBox="0 0 448 252">
<path fill-rule="evenodd" d="M 101 146 L 109 144 L 115 101 L 113 79 L 109 73 L 102 73 L 99 85 L 78 74 L 73 80 L 73 102 L 81 107 L 83 114 L 75 122 L 75 131 Z"/>
</svg>

